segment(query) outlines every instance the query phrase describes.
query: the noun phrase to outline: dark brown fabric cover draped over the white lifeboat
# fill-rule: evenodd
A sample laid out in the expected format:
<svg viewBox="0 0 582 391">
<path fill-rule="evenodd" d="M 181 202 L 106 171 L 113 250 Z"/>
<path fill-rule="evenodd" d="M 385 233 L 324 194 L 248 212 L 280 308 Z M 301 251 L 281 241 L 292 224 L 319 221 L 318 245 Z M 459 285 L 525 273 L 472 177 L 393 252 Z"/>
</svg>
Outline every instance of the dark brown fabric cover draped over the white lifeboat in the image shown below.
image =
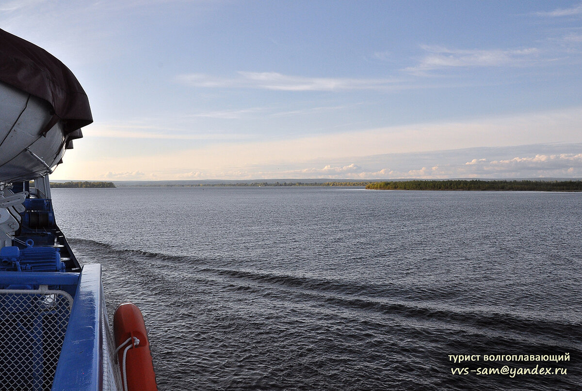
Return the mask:
<svg viewBox="0 0 582 391">
<path fill-rule="evenodd" d="M 61 120 L 69 140 L 83 137 L 79 129 L 93 122 L 87 94 L 69 68 L 44 49 L 2 29 L 0 81 L 49 102 L 54 110 L 52 125 Z"/>
</svg>

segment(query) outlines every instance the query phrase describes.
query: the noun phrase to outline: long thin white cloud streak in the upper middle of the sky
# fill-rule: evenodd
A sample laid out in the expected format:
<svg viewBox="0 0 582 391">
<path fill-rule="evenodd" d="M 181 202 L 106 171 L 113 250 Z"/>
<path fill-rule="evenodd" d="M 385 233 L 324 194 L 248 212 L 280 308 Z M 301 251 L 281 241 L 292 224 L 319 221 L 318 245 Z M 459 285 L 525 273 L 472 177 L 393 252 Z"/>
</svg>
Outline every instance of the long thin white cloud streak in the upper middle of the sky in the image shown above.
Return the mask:
<svg viewBox="0 0 582 391">
<path fill-rule="evenodd" d="M 346 91 L 381 90 L 391 87 L 396 79 L 350 79 L 333 77 L 289 76 L 277 72 L 238 72 L 239 77 L 226 78 L 203 73 L 181 74 L 179 83 L 208 88 L 258 88 L 276 91 Z"/>
</svg>

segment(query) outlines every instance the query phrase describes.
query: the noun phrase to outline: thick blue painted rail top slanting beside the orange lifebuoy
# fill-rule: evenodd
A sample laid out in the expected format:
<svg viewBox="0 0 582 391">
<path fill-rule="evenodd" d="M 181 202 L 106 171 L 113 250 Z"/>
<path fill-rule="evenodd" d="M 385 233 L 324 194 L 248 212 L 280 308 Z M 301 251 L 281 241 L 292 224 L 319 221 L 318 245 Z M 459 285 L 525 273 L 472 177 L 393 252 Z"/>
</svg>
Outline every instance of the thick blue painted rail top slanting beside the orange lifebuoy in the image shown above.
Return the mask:
<svg viewBox="0 0 582 391">
<path fill-rule="evenodd" d="M 104 306 L 101 265 L 85 265 L 79 277 L 52 391 L 102 389 L 101 314 Z"/>
</svg>

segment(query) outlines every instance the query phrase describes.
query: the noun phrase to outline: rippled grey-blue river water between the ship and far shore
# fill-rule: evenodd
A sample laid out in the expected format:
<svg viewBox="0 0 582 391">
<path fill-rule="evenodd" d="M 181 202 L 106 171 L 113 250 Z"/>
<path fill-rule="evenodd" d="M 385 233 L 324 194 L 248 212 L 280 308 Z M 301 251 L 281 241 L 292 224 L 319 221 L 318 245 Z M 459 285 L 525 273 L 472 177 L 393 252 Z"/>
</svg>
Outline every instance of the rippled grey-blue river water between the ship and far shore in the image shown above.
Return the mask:
<svg viewBox="0 0 582 391">
<path fill-rule="evenodd" d="M 52 195 L 110 314 L 144 312 L 160 390 L 582 389 L 582 193 Z"/>
</svg>

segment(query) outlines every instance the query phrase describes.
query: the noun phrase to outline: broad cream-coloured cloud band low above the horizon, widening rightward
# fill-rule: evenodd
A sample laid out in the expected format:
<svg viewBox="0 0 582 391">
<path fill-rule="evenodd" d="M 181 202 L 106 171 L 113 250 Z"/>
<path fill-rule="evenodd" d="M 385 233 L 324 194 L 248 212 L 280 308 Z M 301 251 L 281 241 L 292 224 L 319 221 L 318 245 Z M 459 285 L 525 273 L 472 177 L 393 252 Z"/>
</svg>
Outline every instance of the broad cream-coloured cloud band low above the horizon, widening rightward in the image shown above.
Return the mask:
<svg viewBox="0 0 582 391">
<path fill-rule="evenodd" d="M 87 137 L 90 137 L 91 129 L 92 127 L 87 130 Z M 297 172 L 297 170 L 311 168 L 311 172 L 305 172 L 301 175 L 303 177 L 326 176 L 316 175 L 317 170 L 320 170 L 321 173 L 338 175 L 339 177 L 364 177 L 366 179 L 367 175 L 372 177 L 372 174 L 386 169 L 384 173 L 377 175 L 381 175 L 381 178 L 415 175 L 432 177 L 487 176 L 494 172 L 480 169 L 482 162 L 477 164 L 480 159 L 486 158 L 487 162 L 492 162 L 510 160 L 514 157 L 535 157 L 537 154 L 560 155 L 562 152 L 540 153 L 535 152 L 534 148 L 531 150 L 534 151 L 533 154 L 531 152 L 510 155 L 504 153 L 503 155 L 491 156 L 489 153 L 475 153 L 472 156 L 463 155 L 462 161 L 459 161 L 454 154 L 449 152 L 442 152 L 442 156 L 432 154 L 431 159 L 422 159 L 422 154 L 425 151 L 451 151 L 472 147 L 505 147 L 511 151 L 510 146 L 512 145 L 582 143 L 580 129 L 582 129 L 582 107 L 498 118 L 473 119 L 464 122 L 421 123 L 333 134 L 314 134 L 279 140 L 211 140 L 199 143 L 193 148 L 172 151 L 155 150 L 152 152 L 151 148 L 149 150 L 136 148 L 132 155 L 120 153 L 107 159 L 98 158 L 100 156 L 98 152 L 95 152 L 97 157 L 94 159 L 87 159 L 86 156 L 75 154 L 81 152 L 81 150 L 76 149 L 71 151 L 74 152 L 73 154 L 65 155 L 67 164 L 62 165 L 62 168 L 59 167 L 57 173 L 59 179 L 81 179 L 86 177 L 86 173 L 91 172 L 140 171 L 159 173 L 160 179 L 166 179 L 166 177 L 177 179 L 176 173 L 200 171 L 204 173 L 201 179 L 203 177 L 208 179 L 215 177 L 242 179 L 242 177 L 235 176 L 236 172 L 240 172 L 240 175 L 253 179 L 261 172 L 264 172 L 266 177 L 281 178 L 283 170 Z M 150 133 L 150 130 L 147 130 L 147 133 Z M 164 138 L 164 136 L 158 138 Z M 105 145 L 104 143 L 107 142 L 108 140 L 104 139 L 101 145 Z M 90 148 L 89 144 L 87 144 L 87 148 Z M 550 150 L 551 148 L 545 148 L 545 151 Z M 574 151 L 565 152 L 572 153 Z M 398 159 L 395 158 L 390 162 L 383 161 L 381 158 L 373 158 L 373 155 L 406 153 L 417 154 L 415 155 L 417 157 L 408 158 L 406 164 L 399 163 Z M 572 156 L 578 153 L 576 152 Z M 472 162 L 473 159 L 476 159 L 473 165 L 466 165 L 466 162 Z M 437 166 L 438 170 L 432 169 Z M 187 169 L 184 169 L 185 167 Z M 570 167 L 576 169 L 575 165 Z M 280 169 L 277 170 L 277 168 Z M 425 168 L 423 172 L 410 172 L 423 170 L 423 168 Z M 164 176 L 165 172 L 168 173 L 167 176 Z M 508 171 L 499 172 L 505 175 L 505 172 Z M 559 170 L 555 170 L 555 172 L 558 173 Z M 229 173 L 229 176 L 221 176 L 221 173 L 225 175 Z M 386 173 L 389 175 L 382 175 Z M 532 176 L 536 176 L 534 175 L 536 173 L 533 173 Z M 347 174 L 351 176 L 346 176 Z"/>
</svg>

